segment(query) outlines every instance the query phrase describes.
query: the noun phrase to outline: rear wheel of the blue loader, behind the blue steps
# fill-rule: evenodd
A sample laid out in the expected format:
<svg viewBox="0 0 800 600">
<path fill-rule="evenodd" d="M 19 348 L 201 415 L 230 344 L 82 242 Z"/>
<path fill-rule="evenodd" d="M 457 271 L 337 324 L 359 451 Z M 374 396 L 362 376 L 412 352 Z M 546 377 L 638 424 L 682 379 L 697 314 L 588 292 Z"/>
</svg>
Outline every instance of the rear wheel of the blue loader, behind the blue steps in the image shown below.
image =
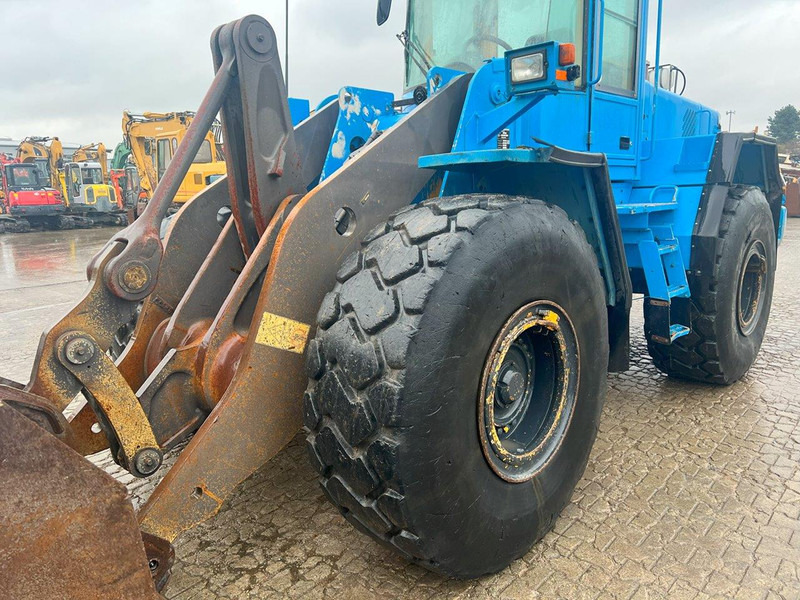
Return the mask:
<svg viewBox="0 0 800 600">
<path fill-rule="evenodd" d="M 713 273 L 692 288 L 692 332 L 671 345 L 647 341 L 653 362 L 671 377 L 730 385 L 755 362 L 772 307 L 777 242 L 764 193 L 730 189 Z"/>
</svg>

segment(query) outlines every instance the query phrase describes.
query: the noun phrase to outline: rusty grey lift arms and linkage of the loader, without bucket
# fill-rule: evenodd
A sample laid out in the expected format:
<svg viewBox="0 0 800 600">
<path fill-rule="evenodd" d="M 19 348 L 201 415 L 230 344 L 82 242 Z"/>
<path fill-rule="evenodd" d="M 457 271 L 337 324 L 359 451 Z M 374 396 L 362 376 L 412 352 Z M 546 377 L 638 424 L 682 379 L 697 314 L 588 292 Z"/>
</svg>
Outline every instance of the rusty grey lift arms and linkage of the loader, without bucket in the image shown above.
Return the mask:
<svg viewBox="0 0 800 600">
<path fill-rule="evenodd" d="M 143 214 L 91 261 L 86 295 L 43 334 L 30 382 L 0 387 L 29 417 L 59 420 L 57 447 L 110 447 L 139 477 L 196 432 L 139 513 L 144 532 L 168 541 L 215 514 L 297 431 L 302 353 L 324 290 L 387 210 L 428 193 L 432 175 L 415 157 L 450 147 L 468 83 L 454 81 L 396 125 L 390 104 L 376 107 L 373 114 L 391 117 L 387 129 L 347 173 L 320 184 L 350 108 L 332 102 L 293 127 L 276 48 L 259 17 L 214 32 L 214 82 Z M 185 203 L 162 245 L 160 222 L 217 113 L 228 175 Z M 398 156 L 404 168 L 369 176 Z M 322 251 L 309 277 L 302 257 L 315 246 Z M 141 300 L 133 338 L 113 366 L 105 351 Z M 59 419 L 81 391 L 88 402 L 71 421 Z M 236 456 L 236 469 L 223 454 Z M 127 559 L 131 572 L 157 559 L 149 548 Z"/>
</svg>

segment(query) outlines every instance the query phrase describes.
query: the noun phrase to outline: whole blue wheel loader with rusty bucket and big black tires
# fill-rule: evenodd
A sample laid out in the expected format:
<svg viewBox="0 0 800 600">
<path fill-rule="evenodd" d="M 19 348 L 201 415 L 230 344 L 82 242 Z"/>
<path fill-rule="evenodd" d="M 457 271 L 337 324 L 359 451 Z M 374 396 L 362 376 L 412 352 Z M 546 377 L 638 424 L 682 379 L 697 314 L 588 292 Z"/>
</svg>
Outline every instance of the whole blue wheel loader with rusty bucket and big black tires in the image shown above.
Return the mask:
<svg viewBox="0 0 800 600">
<path fill-rule="evenodd" d="M 444 575 L 496 572 L 570 501 L 634 294 L 658 369 L 740 379 L 785 222 L 776 144 L 682 95 L 661 19 L 656 0 L 408 0 L 405 93 L 344 87 L 299 123 L 270 24 L 216 29 L 144 213 L 30 381 L 1 382 L 6 596 L 157 598 L 171 542 L 301 427 L 357 529 Z M 227 175 L 162 240 L 218 113 Z M 84 458 L 106 449 L 164 475 L 136 513 Z"/>
</svg>

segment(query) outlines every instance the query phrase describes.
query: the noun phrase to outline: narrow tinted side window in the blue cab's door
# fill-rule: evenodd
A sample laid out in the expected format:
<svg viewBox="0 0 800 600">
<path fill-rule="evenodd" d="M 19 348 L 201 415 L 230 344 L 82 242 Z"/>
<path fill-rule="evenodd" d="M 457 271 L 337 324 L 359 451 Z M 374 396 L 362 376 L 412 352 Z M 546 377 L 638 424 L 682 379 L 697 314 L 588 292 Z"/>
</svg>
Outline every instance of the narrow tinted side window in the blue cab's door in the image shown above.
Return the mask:
<svg viewBox="0 0 800 600">
<path fill-rule="evenodd" d="M 639 1 L 606 0 L 601 88 L 635 95 Z"/>
</svg>

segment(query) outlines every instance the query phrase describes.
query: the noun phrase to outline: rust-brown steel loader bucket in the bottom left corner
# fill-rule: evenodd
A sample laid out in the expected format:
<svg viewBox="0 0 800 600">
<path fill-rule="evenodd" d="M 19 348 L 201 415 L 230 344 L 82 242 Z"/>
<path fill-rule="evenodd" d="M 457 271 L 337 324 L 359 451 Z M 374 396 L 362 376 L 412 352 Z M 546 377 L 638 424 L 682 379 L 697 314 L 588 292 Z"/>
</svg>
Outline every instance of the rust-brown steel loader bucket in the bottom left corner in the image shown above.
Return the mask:
<svg viewBox="0 0 800 600">
<path fill-rule="evenodd" d="M 161 598 L 125 486 L 2 401 L 0 481 L 0 597 Z"/>
</svg>

